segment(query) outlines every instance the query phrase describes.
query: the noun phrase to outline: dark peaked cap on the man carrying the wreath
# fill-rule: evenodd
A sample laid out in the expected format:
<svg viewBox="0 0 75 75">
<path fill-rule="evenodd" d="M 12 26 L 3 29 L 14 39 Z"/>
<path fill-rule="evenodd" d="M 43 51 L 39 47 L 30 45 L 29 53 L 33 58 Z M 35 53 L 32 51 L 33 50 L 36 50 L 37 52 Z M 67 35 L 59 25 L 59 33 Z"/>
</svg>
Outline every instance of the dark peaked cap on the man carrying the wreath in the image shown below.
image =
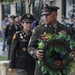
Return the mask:
<svg viewBox="0 0 75 75">
<path fill-rule="evenodd" d="M 48 4 L 43 4 L 42 5 L 42 14 L 48 14 L 53 11 L 57 11 L 59 7 L 57 6 L 49 6 Z"/>
</svg>

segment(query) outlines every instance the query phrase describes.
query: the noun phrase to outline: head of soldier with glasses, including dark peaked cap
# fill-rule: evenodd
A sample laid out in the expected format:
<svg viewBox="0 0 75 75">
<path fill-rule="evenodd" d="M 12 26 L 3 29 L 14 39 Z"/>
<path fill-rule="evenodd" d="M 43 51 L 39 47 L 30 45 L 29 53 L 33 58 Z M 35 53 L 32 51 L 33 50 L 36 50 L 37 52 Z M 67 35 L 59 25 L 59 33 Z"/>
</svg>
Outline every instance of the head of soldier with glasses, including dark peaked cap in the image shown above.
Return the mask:
<svg viewBox="0 0 75 75">
<path fill-rule="evenodd" d="M 34 20 L 35 18 L 31 14 L 27 13 L 21 18 L 20 22 L 24 29 L 30 30 L 32 21 Z"/>
</svg>

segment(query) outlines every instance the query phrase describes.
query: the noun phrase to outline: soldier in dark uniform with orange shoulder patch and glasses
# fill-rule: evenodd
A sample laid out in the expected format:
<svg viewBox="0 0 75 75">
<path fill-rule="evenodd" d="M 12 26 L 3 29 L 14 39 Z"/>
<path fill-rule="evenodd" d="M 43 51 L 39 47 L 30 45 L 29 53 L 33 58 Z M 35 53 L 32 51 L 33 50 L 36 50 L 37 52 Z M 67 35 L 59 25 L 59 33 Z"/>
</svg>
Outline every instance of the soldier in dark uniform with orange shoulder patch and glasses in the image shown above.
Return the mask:
<svg viewBox="0 0 75 75">
<path fill-rule="evenodd" d="M 9 71 L 16 69 L 17 75 L 34 75 L 35 59 L 27 51 L 33 20 L 31 14 L 24 15 L 21 19 L 23 30 L 16 32 L 13 37 Z"/>
</svg>

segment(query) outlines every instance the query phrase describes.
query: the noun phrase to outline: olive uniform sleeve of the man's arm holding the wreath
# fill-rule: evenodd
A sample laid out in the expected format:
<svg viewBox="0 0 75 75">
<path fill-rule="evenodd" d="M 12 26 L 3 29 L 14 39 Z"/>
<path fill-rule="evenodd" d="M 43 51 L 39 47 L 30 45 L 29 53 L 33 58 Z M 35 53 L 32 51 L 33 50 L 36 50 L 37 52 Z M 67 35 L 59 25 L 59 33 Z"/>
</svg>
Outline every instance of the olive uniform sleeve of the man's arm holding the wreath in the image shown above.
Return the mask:
<svg viewBox="0 0 75 75">
<path fill-rule="evenodd" d="M 37 50 L 37 31 L 36 29 L 34 28 L 33 32 L 32 32 L 32 36 L 30 38 L 30 41 L 29 41 L 29 45 L 28 45 L 28 52 L 29 54 L 34 57 L 36 59 L 36 50 Z"/>
</svg>

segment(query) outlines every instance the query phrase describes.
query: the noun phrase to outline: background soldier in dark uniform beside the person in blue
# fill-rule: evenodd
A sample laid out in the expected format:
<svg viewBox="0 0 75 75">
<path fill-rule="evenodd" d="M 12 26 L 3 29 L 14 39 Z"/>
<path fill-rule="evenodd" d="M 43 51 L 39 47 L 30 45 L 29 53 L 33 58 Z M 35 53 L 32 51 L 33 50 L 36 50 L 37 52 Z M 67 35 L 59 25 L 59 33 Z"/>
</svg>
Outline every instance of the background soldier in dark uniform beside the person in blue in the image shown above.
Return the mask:
<svg viewBox="0 0 75 75">
<path fill-rule="evenodd" d="M 7 25 L 5 29 L 5 36 L 7 39 L 8 59 L 10 55 L 10 48 L 11 48 L 11 42 L 12 42 L 13 35 L 16 31 L 19 31 L 19 30 L 20 30 L 19 26 L 15 24 L 15 16 L 11 15 L 10 24 Z"/>
</svg>

